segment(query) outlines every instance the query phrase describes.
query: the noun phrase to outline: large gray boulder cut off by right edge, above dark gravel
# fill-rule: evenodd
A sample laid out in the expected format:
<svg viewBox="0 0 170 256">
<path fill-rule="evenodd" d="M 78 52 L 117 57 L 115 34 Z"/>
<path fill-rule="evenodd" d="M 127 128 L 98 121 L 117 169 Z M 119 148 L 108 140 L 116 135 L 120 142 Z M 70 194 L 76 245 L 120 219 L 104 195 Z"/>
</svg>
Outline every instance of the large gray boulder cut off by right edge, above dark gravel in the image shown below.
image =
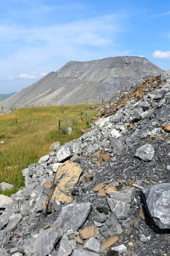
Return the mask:
<svg viewBox="0 0 170 256">
<path fill-rule="evenodd" d="M 160 183 L 142 190 L 148 215 L 160 229 L 170 228 L 170 183 Z"/>
</svg>

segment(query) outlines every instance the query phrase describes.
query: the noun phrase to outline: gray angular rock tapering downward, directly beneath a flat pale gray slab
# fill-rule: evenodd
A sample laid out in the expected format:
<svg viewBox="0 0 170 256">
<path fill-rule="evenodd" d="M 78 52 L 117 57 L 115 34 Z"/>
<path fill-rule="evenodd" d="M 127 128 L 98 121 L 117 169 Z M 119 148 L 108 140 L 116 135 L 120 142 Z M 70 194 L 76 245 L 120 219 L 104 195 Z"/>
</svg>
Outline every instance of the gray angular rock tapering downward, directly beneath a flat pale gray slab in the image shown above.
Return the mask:
<svg viewBox="0 0 170 256">
<path fill-rule="evenodd" d="M 119 220 L 125 220 L 128 217 L 130 204 L 108 198 L 108 205 Z"/>
</svg>

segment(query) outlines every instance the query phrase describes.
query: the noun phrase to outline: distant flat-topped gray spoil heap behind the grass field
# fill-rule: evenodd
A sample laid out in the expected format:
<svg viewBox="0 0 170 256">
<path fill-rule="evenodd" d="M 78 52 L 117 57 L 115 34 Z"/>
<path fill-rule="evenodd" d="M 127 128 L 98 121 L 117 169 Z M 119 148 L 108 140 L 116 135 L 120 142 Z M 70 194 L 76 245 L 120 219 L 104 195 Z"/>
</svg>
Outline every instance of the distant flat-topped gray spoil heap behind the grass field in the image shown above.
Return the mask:
<svg viewBox="0 0 170 256">
<path fill-rule="evenodd" d="M 111 99 L 124 89 L 125 57 L 69 61 L 56 72 L 23 88 L 3 102 L 5 110 L 35 105 L 79 104 Z M 126 86 L 162 70 L 143 57 L 128 57 Z"/>
</svg>

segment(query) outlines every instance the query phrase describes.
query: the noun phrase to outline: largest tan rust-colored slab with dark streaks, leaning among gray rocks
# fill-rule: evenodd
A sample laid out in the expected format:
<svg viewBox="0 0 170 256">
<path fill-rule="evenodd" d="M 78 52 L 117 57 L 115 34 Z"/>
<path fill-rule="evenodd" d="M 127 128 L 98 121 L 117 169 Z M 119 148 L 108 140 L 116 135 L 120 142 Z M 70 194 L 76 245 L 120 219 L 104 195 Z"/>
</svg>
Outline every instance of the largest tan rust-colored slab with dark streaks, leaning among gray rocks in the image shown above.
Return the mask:
<svg viewBox="0 0 170 256">
<path fill-rule="evenodd" d="M 71 191 L 79 180 L 82 173 L 79 163 L 71 160 L 59 166 L 54 177 L 52 191 L 48 202 L 48 211 L 54 212 L 53 202 L 56 198 L 62 204 L 69 204 L 72 201 Z"/>
</svg>

